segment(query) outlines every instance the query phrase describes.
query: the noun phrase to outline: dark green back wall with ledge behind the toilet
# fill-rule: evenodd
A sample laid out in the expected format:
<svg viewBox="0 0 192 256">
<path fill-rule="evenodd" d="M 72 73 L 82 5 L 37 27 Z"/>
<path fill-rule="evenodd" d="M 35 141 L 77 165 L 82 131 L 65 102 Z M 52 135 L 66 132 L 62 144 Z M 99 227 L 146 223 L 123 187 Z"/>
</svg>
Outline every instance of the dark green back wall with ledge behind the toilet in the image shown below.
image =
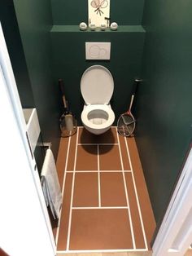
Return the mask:
<svg viewBox="0 0 192 256">
<path fill-rule="evenodd" d="M 81 75 L 90 65 L 107 67 L 115 80 L 111 107 L 116 119 L 128 108 L 133 79 L 139 77 L 145 30 L 142 28 L 144 0 L 111 1 L 111 21 L 120 24 L 118 31 L 85 31 L 79 29 L 88 20 L 88 0 L 78 2 L 51 0 L 53 28 L 51 40 L 55 83 L 63 78 L 69 107 L 81 125 L 84 100 L 81 96 Z M 110 61 L 85 60 L 85 42 L 111 42 Z M 116 123 L 114 123 L 116 125 Z"/>
</svg>

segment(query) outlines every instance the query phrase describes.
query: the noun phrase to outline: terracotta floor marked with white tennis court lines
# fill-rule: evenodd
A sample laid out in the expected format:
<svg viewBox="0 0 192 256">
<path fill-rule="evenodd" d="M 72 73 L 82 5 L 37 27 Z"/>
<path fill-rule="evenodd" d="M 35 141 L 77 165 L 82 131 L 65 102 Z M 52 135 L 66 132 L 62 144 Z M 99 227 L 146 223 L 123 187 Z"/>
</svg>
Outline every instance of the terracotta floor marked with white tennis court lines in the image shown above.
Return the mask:
<svg viewBox="0 0 192 256">
<path fill-rule="evenodd" d="M 155 219 L 133 138 L 118 135 L 116 127 L 99 136 L 78 127 L 61 139 L 57 169 L 63 188 L 58 255 L 151 249 Z"/>
</svg>

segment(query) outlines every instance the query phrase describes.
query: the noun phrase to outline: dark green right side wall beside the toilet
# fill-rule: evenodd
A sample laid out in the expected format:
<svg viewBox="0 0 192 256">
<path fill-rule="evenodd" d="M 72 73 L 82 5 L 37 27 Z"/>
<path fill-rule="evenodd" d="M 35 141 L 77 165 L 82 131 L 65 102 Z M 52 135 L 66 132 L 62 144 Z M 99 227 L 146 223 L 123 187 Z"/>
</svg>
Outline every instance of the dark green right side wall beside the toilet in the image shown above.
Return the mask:
<svg viewBox="0 0 192 256">
<path fill-rule="evenodd" d="M 192 2 L 146 0 L 137 147 L 157 222 L 192 135 Z"/>
</svg>

